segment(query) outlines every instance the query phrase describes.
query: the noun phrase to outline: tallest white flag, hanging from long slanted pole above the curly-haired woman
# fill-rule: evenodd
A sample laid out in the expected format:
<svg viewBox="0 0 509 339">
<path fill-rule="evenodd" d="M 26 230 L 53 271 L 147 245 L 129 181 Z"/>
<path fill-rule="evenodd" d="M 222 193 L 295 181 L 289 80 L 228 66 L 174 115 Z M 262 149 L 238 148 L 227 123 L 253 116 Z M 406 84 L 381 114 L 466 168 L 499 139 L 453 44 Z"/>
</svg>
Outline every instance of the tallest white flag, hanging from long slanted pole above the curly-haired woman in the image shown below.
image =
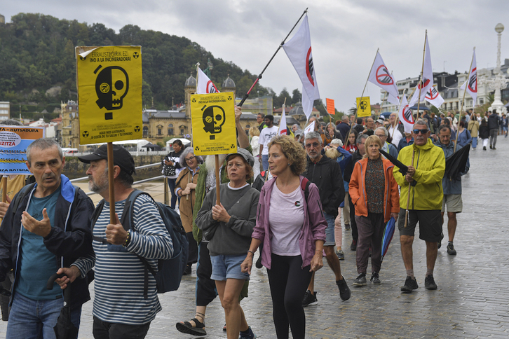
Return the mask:
<svg viewBox="0 0 509 339">
<path fill-rule="evenodd" d="M 313 110 L 313 102 L 316 99 L 320 99 L 320 92 L 318 92 L 315 67 L 313 67 L 308 15 L 304 17 L 301 27 L 299 27 L 299 30 L 292 39 L 283 45 L 283 49 L 301 79 L 302 108 L 306 117 L 309 118 Z"/>
</svg>

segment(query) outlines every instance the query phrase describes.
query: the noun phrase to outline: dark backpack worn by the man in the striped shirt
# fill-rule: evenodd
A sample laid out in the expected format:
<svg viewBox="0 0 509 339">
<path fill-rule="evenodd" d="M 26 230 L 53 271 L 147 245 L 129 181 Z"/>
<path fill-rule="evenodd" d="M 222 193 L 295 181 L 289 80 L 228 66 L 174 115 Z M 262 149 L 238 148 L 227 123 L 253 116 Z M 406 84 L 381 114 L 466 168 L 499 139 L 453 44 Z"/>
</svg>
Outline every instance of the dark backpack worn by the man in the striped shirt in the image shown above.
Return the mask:
<svg viewBox="0 0 509 339">
<path fill-rule="evenodd" d="M 187 265 L 187 256 L 189 254 L 189 242 L 187 241 L 186 231 L 184 227 L 182 227 L 182 221 L 180 221 L 180 216 L 175 212 L 175 209 L 172 209 L 170 206 L 164 205 L 162 202 L 156 202 L 154 198 L 149 195 L 149 193 L 145 193 L 140 190 L 135 190 L 130 193 L 128 198 L 125 200 L 125 205 L 123 207 L 121 224 L 125 230 L 129 230 L 131 225 L 133 224 L 133 205 L 135 203 L 136 198 L 140 195 L 148 195 L 151 200 L 156 204 L 159 214 L 163 219 L 164 225 L 166 226 L 166 230 L 170 233 L 170 237 L 173 242 L 173 255 L 170 259 L 160 259 L 158 261 L 158 272 L 155 272 L 153 268 L 147 262 L 147 259 L 138 256 L 142 263 L 145 265 L 145 283 L 144 283 L 144 298 L 148 298 L 149 291 L 149 273 L 154 276 L 156 279 L 157 293 L 165 293 L 168 291 L 177 291 L 180 285 L 180 280 L 182 279 L 182 275 L 184 274 L 184 270 Z M 101 214 L 102 207 L 104 206 L 104 199 L 97 204 L 95 207 L 94 214 L 92 216 L 92 229 L 95 225 L 97 219 L 99 219 L 99 215 Z M 129 217 L 127 217 L 129 216 Z M 107 242 L 106 239 L 102 237 L 94 237 L 94 240 L 98 242 L 102 242 L 103 244 L 108 244 L 111 247 L 121 247 L 121 245 L 112 245 Z"/>
</svg>

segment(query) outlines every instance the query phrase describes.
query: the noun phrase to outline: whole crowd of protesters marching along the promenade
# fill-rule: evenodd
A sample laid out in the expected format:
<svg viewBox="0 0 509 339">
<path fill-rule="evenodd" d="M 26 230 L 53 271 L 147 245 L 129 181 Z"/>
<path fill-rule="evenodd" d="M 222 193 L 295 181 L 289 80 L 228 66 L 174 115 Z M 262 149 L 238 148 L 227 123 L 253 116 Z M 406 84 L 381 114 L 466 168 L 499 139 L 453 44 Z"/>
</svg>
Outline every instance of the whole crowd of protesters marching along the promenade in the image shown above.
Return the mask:
<svg viewBox="0 0 509 339">
<path fill-rule="evenodd" d="M 345 115 L 337 123 L 313 117 L 309 122 L 314 130 L 305 135 L 299 125 L 292 126 L 290 135 L 278 135 L 273 116 L 259 113 L 259 126 L 251 127 L 248 135 L 240 125 L 241 113 L 236 108 L 238 150 L 220 155 L 219 169 L 214 156 L 201 158 L 178 139 L 162 161 L 171 205 L 175 208 L 178 201 L 189 241 L 184 274 L 191 274 L 196 263 L 196 313 L 176 324 L 178 331 L 190 335 L 206 335 L 205 311 L 219 296 L 227 338 L 256 338 L 256 328 L 247 324 L 240 306 L 255 265 L 265 267 L 269 277 L 277 338 L 289 338 L 290 331 L 294 339 L 305 338 L 304 307 L 318 304 L 315 272 L 323 267 L 323 258 L 334 273 L 341 300 L 351 298 L 348 279 L 360 288 L 368 284 L 370 273 L 373 285 L 382 284 L 382 238 L 391 222 L 398 228 L 406 273 L 400 290 L 411 293 L 419 288 L 412 251 L 417 226 L 426 243 L 424 286 L 437 289 L 433 272 L 444 238 L 442 225 L 447 216 L 447 254 L 455 256 L 456 214 L 463 207 L 461 176 L 470 165 L 467 160 L 454 174 L 445 174 L 445 159 L 460 150 L 468 156 L 479 138 L 484 151 L 488 144 L 496 150 L 497 136 L 508 136 L 509 123 L 496 111 L 483 116 L 472 110 L 440 115 L 424 111 L 412 130 L 405 130 L 397 113 L 388 118 Z M 106 148 L 79 158 L 90 164 L 90 190 L 104 198 L 94 219 L 90 199 L 62 174 L 65 158 L 60 146 L 40 140 L 27 150 L 36 184 L 20 197 L 18 204 L 24 208 L 13 210 L 11 198 L 0 203 L 0 280 L 13 282 L 11 317 L 8 307 L 1 308 L 2 319 L 9 319 L 8 337 L 16 332 L 52 337 L 48 326 L 60 312 L 62 293 L 34 289 L 32 281 L 43 282 L 57 271 L 62 277 L 56 284 L 62 289 L 76 286 L 71 321 L 79 327 L 95 265 L 95 338 L 144 338 L 161 310 L 154 277 L 143 277 L 144 265 L 157 268 L 158 260 L 173 255 L 173 246 L 147 197 L 133 203 L 132 229 L 125 230 L 119 216 L 115 221 L 108 218 L 110 202 L 119 213 L 133 193 L 132 156 L 120 146 L 114 148 L 114 197 L 107 190 Z M 262 185 L 252 185 L 260 180 Z M 20 223 L 22 230 L 15 226 Z M 341 261 L 348 257 L 343 227 L 351 231 L 357 272 L 341 271 Z M 120 276 L 138 287 L 118 281 L 109 285 Z M 41 303 L 50 307 L 50 314 L 32 312 L 32 305 Z M 136 310 L 130 310 L 129 303 L 135 303 Z"/>
</svg>

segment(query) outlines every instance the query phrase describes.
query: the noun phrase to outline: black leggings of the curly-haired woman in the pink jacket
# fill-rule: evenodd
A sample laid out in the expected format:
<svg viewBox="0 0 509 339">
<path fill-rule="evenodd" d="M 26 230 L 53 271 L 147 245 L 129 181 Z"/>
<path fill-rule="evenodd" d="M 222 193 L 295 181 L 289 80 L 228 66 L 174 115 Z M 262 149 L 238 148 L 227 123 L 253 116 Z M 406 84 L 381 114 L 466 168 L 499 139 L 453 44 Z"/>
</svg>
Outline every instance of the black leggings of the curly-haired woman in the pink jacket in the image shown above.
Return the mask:
<svg viewBox="0 0 509 339">
<path fill-rule="evenodd" d="M 271 269 L 267 270 L 271 286 L 274 326 L 278 339 L 288 339 L 288 325 L 294 339 L 306 336 L 306 314 L 302 298 L 306 293 L 312 272 L 311 265 L 301 268 L 301 256 L 272 254 Z"/>
</svg>

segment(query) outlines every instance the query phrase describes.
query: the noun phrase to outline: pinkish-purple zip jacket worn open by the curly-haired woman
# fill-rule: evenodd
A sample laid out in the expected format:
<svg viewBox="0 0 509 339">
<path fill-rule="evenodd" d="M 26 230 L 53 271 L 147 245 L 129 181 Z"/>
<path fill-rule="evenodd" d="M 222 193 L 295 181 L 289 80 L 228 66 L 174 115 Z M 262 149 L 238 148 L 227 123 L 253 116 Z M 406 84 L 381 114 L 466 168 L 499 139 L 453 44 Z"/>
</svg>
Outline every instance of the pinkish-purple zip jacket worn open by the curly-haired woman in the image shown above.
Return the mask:
<svg viewBox="0 0 509 339">
<path fill-rule="evenodd" d="M 300 176 L 301 184 L 304 177 Z M 257 224 L 253 229 L 251 237 L 262 240 L 264 248 L 262 250 L 262 265 L 271 269 L 271 226 L 269 225 L 269 209 L 271 206 L 272 188 L 276 184 L 276 178 L 267 181 L 260 192 Z M 304 199 L 304 190 L 301 187 L 302 200 L 304 200 L 304 225 L 299 235 L 299 248 L 302 256 L 302 267 L 311 265 L 311 259 L 315 254 L 315 241 L 323 240 L 325 242 L 325 228 L 327 221 L 323 216 L 322 203 L 318 194 L 318 187 L 310 183 L 308 201 Z M 308 205 L 309 203 L 309 205 Z M 277 212 L 276 212 L 277 213 Z"/>
</svg>

